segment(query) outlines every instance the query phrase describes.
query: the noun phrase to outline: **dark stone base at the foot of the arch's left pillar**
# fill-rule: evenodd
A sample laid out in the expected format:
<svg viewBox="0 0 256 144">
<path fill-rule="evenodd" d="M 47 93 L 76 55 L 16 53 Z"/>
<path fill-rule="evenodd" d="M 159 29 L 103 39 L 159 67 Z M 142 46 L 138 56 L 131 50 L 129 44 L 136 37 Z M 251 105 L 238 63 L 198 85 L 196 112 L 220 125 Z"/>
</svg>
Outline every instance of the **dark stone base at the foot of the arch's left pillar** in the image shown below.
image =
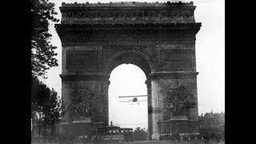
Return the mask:
<svg viewBox="0 0 256 144">
<path fill-rule="evenodd" d="M 103 122 L 63 122 L 58 127 L 58 132 L 62 137 L 78 137 L 89 135 L 92 130 L 97 130 L 101 126 L 104 126 Z"/>
</svg>

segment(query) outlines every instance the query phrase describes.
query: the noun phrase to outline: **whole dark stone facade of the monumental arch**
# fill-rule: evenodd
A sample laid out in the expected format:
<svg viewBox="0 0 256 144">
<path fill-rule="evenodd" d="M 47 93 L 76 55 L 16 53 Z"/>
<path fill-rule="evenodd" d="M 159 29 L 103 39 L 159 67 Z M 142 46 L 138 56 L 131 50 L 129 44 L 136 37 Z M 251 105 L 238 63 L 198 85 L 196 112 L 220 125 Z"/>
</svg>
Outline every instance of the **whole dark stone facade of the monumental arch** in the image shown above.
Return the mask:
<svg viewBox="0 0 256 144">
<path fill-rule="evenodd" d="M 64 121 L 79 117 L 74 109 L 81 103 L 91 122 L 108 125 L 110 73 L 131 63 L 146 74 L 150 136 L 158 139 L 158 122 L 174 118 L 174 109 L 166 106 L 175 103 L 164 102 L 173 95 L 170 86 L 189 91 L 185 99 L 194 106 L 181 116 L 193 127 L 188 133 L 198 133 L 198 126 L 190 126 L 198 122 L 195 35 L 201 23 L 194 21 L 194 9 L 193 2 L 62 3 L 62 22 L 55 27 L 62 41 Z M 174 125 L 174 130 L 185 129 Z"/>
</svg>

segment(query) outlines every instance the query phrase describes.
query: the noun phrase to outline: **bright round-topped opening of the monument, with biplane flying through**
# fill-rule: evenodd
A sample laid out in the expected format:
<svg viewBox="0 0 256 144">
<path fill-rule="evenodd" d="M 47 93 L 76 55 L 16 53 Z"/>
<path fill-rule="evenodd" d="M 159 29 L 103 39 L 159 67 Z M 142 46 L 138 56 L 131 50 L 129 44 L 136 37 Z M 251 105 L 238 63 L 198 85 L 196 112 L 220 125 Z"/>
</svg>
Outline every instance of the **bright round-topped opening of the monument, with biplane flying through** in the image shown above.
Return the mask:
<svg viewBox="0 0 256 144">
<path fill-rule="evenodd" d="M 147 95 L 146 74 L 134 64 L 121 64 L 110 73 L 109 122 L 120 127 L 148 129 L 147 97 L 118 98 Z"/>
</svg>

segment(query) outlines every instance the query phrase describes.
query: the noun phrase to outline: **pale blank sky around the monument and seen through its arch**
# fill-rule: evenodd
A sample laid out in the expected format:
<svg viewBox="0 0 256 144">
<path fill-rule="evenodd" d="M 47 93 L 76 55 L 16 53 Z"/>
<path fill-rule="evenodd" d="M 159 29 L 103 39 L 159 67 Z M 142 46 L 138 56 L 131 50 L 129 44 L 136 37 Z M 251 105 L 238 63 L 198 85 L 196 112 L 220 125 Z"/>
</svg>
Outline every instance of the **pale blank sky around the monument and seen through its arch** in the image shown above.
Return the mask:
<svg viewBox="0 0 256 144">
<path fill-rule="evenodd" d="M 62 2 L 127 2 L 127 0 L 50 0 L 55 3 L 57 18 L 61 19 L 58 9 Z M 157 2 L 136 1 L 133 2 Z M 167 1 L 158 1 L 167 2 Z M 171 1 L 170 1 L 171 2 Z M 186 1 L 190 2 L 190 1 Z M 198 114 L 206 112 L 225 112 L 225 1 L 224 0 L 194 0 L 197 6 L 194 11 L 196 22 L 202 22 L 202 27 L 196 35 L 196 61 L 198 74 Z M 50 24 L 51 42 L 57 46 L 57 67 L 48 70 L 47 79 L 40 78 L 50 88 L 54 88 L 62 96 L 62 45 L 54 24 Z M 118 102 L 118 96 L 146 94 L 146 76 L 138 66 L 120 65 L 110 74 L 110 121 L 119 124 L 130 124 L 130 127 L 147 128 L 146 102 L 131 104 Z M 129 87 L 129 89 L 123 89 Z M 127 100 L 127 99 L 125 99 Z M 116 107 L 118 106 L 118 109 Z M 122 110 L 122 111 L 121 111 Z M 125 111 L 126 113 L 124 113 Z M 130 116 L 130 117 L 128 117 Z M 136 124 L 136 125 L 134 125 Z M 126 125 L 122 125 L 126 126 Z"/>
</svg>

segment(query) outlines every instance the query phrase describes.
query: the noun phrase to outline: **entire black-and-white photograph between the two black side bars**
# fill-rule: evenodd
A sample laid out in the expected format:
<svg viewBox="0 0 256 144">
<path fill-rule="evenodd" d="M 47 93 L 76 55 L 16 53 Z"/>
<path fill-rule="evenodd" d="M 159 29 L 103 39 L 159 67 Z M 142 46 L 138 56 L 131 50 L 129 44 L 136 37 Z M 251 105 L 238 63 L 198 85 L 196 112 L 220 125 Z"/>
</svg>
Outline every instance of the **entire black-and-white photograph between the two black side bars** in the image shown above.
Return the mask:
<svg viewBox="0 0 256 144">
<path fill-rule="evenodd" d="M 31 144 L 225 144 L 225 0 L 30 0 Z"/>
</svg>

